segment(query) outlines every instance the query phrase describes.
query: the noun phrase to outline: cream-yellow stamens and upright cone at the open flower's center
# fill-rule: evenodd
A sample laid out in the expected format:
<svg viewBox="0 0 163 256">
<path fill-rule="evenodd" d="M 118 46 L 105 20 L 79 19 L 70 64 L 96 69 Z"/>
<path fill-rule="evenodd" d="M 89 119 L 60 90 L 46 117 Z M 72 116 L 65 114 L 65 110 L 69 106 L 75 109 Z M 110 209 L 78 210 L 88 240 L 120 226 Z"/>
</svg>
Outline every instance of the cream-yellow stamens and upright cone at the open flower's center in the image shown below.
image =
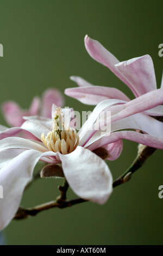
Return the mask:
<svg viewBox="0 0 163 256">
<path fill-rule="evenodd" d="M 61 108 L 57 107 L 53 113 L 53 130 L 47 136 L 42 133 L 41 140 L 46 147 L 55 153 L 70 154 L 79 143 L 77 131 L 71 127 L 65 127 Z"/>
</svg>

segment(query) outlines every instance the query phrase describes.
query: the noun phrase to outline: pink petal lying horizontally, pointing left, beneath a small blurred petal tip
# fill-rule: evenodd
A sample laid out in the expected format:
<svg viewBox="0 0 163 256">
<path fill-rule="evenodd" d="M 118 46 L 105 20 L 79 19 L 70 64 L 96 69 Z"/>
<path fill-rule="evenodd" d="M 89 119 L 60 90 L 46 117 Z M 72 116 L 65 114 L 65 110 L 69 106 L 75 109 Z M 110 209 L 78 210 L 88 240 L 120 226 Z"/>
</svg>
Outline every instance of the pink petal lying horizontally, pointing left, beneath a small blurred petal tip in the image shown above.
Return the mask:
<svg viewBox="0 0 163 256">
<path fill-rule="evenodd" d="M 129 101 L 129 98 L 120 90 L 104 86 L 67 88 L 65 94 L 87 105 L 97 105 L 106 99 Z"/>
</svg>

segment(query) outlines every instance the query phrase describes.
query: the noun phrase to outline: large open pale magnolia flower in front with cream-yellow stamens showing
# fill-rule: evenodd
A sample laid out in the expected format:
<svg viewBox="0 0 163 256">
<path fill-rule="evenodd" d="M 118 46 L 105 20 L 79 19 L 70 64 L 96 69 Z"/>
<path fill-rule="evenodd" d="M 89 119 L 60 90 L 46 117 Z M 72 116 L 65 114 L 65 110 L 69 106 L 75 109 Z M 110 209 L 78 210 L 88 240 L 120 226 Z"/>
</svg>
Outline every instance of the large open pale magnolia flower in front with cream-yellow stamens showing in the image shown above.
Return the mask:
<svg viewBox="0 0 163 256">
<path fill-rule="evenodd" d="M 53 119 L 27 117 L 21 127 L 3 130 L 0 184 L 4 189 L 4 198 L 0 200 L 0 230 L 14 217 L 24 187 L 32 178 L 39 160 L 61 163 L 68 184 L 79 197 L 104 204 L 112 192 L 112 175 L 103 159 L 114 160 L 121 154 L 122 138 L 163 149 L 163 123 L 139 113 L 163 103 L 162 96 L 163 90 L 159 89 L 154 91 L 154 95 L 149 92 L 123 104 L 119 100 L 102 101 L 78 133 L 71 127 L 72 122 L 64 124 L 60 108 L 53 111 Z M 106 111 L 111 111 L 110 131 L 103 129 L 105 125 L 109 126 L 110 118 L 98 118 Z M 23 129 L 40 141 L 5 138 Z"/>
</svg>

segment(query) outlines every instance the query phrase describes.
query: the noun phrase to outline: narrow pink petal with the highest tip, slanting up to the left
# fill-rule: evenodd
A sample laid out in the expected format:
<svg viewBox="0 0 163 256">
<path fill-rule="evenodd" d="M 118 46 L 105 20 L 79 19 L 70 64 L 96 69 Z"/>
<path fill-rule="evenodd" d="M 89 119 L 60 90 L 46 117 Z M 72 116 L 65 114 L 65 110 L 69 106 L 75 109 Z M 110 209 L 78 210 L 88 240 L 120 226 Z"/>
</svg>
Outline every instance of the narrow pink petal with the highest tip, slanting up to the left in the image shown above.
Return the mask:
<svg viewBox="0 0 163 256">
<path fill-rule="evenodd" d="M 85 36 L 84 42 L 85 48 L 90 56 L 97 62 L 107 66 L 118 78 L 120 78 L 120 80 L 126 83 L 130 88 L 129 81 L 115 67 L 115 65 L 120 61 L 108 50 L 106 50 L 106 48 L 102 46 L 98 41 L 89 38 L 89 36 Z M 135 92 L 133 93 L 135 94 Z"/>
</svg>

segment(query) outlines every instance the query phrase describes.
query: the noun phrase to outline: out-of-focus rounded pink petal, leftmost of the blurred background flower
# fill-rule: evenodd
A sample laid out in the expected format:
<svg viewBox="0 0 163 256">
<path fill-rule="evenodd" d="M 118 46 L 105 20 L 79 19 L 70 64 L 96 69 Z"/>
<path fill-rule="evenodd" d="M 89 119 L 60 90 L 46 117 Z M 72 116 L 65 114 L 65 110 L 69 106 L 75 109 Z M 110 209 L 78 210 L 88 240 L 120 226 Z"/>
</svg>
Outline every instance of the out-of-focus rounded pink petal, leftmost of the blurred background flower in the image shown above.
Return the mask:
<svg viewBox="0 0 163 256">
<path fill-rule="evenodd" d="M 5 120 L 11 126 L 21 126 L 23 123 L 23 115 L 27 115 L 27 111 L 23 111 L 14 101 L 7 101 L 2 104 L 2 112 Z"/>
</svg>

